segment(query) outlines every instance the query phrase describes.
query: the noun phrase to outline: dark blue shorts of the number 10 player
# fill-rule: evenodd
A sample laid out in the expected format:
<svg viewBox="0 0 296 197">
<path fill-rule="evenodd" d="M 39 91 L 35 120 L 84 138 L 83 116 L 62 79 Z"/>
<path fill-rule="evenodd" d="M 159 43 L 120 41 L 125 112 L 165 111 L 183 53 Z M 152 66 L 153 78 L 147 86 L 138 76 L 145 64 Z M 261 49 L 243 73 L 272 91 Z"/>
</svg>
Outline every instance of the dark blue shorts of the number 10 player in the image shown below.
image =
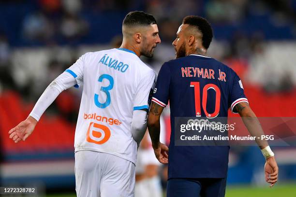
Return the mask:
<svg viewBox="0 0 296 197">
<path fill-rule="evenodd" d="M 224 197 L 226 178 L 171 178 L 167 181 L 167 197 Z"/>
</svg>

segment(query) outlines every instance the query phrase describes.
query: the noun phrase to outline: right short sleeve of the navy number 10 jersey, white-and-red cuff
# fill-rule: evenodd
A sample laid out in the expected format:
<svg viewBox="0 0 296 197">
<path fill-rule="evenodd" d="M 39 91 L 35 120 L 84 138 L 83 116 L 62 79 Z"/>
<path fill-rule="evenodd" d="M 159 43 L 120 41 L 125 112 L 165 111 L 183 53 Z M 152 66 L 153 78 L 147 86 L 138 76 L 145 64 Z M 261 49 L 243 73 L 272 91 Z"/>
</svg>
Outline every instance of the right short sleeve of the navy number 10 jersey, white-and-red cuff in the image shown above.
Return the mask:
<svg viewBox="0 0 296 197">
<path fill-rule="evenodd" d="M 234 80 L 229 100 L 231 112 L 237 113 L 235 106 L 240 102 L 249 103 L 247 97 L 244 94 L 244 87 L 241 83 L 241 80 L 238 77 L 237 73 L 234 72 Z"/>
</svg>

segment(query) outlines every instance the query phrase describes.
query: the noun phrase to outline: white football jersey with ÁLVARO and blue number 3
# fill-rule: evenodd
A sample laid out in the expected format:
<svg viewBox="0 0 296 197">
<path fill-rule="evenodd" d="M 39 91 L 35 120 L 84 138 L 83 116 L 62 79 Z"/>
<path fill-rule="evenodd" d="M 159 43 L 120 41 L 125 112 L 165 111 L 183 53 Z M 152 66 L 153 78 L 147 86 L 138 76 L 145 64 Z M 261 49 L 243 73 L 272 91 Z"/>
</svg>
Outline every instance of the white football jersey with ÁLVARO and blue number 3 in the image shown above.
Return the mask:
<svg viewBox="0 0 296 197">
<path fill-rule="evenodd" d="M 149 109 L 155 72 L 127 49 L 86 53 L 66 71 L 76 87 L 83 84 L 75 152 L 103 152 L 135 163 L 133 110 Z"/>
</svg>

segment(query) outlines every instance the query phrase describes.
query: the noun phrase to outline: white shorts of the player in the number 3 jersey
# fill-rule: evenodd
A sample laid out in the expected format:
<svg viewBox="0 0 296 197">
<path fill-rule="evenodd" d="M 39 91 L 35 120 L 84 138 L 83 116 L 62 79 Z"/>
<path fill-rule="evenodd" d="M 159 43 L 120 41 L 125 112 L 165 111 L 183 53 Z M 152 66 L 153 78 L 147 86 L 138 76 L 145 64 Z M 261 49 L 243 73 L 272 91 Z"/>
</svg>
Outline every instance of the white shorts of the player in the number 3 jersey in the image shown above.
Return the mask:
<svg viewBox="0 0 296 197">
<path fill-rule="evenodd" d="M 135 166 L 118 156 L 94 152 L 75 153 L 77 197 L 133 197 Z"/>
</svg>

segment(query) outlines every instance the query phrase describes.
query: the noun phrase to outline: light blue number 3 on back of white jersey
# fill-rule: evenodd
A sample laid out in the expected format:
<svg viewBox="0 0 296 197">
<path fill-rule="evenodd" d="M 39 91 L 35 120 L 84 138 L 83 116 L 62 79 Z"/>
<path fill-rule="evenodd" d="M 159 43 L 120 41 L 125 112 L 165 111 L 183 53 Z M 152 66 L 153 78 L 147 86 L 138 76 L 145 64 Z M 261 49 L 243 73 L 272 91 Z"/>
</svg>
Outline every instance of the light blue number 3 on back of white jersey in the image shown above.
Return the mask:
<svg viewBox="0 0 296 197">
<path fill-rule="evenodd" d="M 100 90 L 106 94 L 106 96 L 107 96 L 106 101 L 104 103 L 101 103 L 99 101 L 99 95 L 98 94 L 95 94 L 95 96 L 94 96 L 95 104 L 99 108 L 106 108 L 111 103 L 111 95 L 110 95 L 110 92 L 109 91 L 113 88 L 114 80 L 113 80 L 113 77 L 111 77 L 110 75 L 108 75 L 108 74 L 102 74 L 99 77 L 98 82 L 103 82 L 104 79 L 106 79 L 106 80 L 109 81 L 109 85 L 106 86 L 106 87 L 101 86 L 101 89 Z"/>
</svg>

